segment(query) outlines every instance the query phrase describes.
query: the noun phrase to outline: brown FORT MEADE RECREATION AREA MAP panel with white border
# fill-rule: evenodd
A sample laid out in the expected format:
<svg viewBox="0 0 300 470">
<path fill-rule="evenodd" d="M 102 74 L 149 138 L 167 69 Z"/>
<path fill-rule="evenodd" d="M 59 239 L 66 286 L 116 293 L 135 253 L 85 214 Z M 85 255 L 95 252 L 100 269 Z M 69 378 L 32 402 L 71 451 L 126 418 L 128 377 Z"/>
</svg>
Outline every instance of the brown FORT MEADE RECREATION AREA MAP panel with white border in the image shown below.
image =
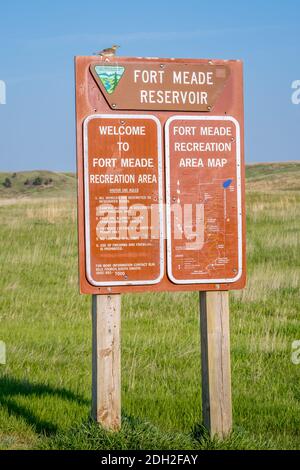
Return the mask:
<svg viewBox="0 0 300 470">
<path fill-rule="evenodd" d="M 229 116 L 166 123 L 168 276 L 231 283 L 242 273 L 240 129 Z"/>
</svg>

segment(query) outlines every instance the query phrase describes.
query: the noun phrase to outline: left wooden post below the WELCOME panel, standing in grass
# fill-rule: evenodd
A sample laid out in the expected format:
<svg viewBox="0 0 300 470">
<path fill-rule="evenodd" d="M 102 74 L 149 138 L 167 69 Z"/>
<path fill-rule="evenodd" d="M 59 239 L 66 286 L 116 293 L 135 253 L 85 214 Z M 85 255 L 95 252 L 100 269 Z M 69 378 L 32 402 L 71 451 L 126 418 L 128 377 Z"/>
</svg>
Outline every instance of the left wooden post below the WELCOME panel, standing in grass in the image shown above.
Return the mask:
<svg viewBox="0 0 300 470">
<path fill-rule="evenodd" d="M 107 430 L 121 427 L 121 295 L 93 295 L 92 416 Z"/>
</svg>

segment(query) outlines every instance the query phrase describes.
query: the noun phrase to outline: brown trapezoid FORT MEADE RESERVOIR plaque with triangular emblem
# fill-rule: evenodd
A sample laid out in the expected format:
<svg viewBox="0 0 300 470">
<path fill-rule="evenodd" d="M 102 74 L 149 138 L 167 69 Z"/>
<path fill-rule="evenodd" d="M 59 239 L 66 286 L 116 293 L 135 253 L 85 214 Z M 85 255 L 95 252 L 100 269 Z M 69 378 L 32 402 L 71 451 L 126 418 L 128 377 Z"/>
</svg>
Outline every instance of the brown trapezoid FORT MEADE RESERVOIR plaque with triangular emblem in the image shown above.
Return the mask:
<svg viewBox="0 0 300 470">
<path fill-rule="evenodd" d="M 226 65 L 101 62 L 90 70 L 112 109 L 211 111 L 230 69 Z"/>
</svg>

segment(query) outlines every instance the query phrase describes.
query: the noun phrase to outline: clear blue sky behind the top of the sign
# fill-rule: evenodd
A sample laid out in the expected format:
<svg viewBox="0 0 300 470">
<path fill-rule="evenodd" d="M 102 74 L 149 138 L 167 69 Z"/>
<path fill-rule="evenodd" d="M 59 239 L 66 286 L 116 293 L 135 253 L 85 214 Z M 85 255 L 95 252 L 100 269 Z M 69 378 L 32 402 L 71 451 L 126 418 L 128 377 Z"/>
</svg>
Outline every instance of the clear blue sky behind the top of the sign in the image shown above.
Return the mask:
<svg viewBox="0 0 300 470">
<path fill-rule="evenodd" d="M 10 0 L 0 4 L 0 170 L 75 169 L 73 57 L 242 59 L 246 161 L 299 159 L 299 0 Z"/>
</svg>

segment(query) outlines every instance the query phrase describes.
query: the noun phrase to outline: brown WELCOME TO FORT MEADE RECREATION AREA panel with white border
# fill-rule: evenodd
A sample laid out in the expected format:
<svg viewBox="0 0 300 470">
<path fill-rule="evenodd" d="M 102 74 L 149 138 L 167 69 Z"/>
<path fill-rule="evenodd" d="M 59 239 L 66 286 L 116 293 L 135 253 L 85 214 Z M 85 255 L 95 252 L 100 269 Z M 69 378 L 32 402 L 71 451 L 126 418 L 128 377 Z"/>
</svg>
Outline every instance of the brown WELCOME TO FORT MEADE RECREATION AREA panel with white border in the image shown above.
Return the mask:
<svg viewBox="0 0 300 470">
<path fill-rule="evenodd" d="M 94 286 L 163 275 L 161 126 L 154 116 L 84 121 L 86 275 Z"/>
</svg>

